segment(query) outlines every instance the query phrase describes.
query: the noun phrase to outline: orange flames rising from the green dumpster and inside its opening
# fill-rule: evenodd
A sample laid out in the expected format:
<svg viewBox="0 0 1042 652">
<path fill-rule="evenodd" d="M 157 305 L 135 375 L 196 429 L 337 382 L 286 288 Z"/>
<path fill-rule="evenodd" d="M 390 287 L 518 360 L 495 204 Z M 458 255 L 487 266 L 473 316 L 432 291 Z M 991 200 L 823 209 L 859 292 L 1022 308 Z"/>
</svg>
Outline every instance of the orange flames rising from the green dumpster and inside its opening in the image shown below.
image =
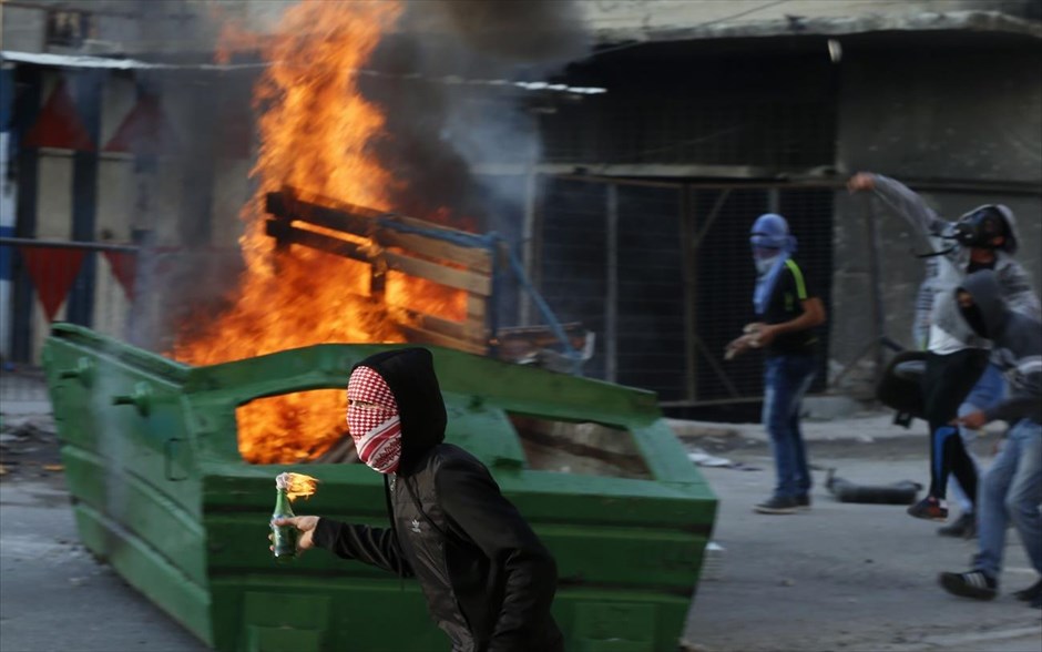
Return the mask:
<svg viewBox="0 0 1042 652">
<path fill-rule="evenodd" d="M 384 116 L 360 94 L 356 71 L 399 13 L 389 0 L 304 0 L 285 12 L 277 33 L 255 41 L 269 64 L 254 94 L 263 113 L 252 171 L 257 191 L 242 212 L 247 269 L 232 307 L 202 335 L 180 339 L 176 359 L 210 365 L 321 343 L 403 342 L 388 318 L 396 305 L 459 318 L 461 293 L 388 274 L 386 298 L 377 302 L 369 265 L 300 246 L 276 253 L 264 233 L 264 197 L 285 186 L 305 197 L 392 210 L 388 191 L 397 182 L 369 151 Z M 242 32 L 228 38 L 243 42 Z M 343 389 L 242 406 L 239 451 L 255 463 L 314 458 L 344 436 L 346 409 Z"/>
</svg>

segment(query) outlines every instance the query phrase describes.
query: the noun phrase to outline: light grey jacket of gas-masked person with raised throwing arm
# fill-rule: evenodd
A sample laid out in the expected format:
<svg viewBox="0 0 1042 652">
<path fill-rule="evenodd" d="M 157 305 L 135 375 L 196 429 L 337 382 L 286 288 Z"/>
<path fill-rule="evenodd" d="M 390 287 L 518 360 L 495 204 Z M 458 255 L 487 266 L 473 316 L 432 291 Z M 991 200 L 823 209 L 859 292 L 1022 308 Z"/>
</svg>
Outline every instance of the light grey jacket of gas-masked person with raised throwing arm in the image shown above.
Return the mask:
<svg viewBox="0 0 1042 652">
<path fill-rule="evenodd" d="M 938 215 L 922 197 L 901 182 L 881 174 L 872 176 L 876 182 L 877 196 L 929 240 L 933 251 L 947 252 L 942 256 L 930 258 L 930 261 L 937 261 L 936 265 L 928 264 L 928 276 L 923 281 L 916 302 L 917 332 L 921 333 L 932 323 L 967 346 L 987 347 L 988 343 L 969 329 L 966 322 L 960 318 L 954 294 L 951 292 L 966 277 L 970 264 L 968 248 L 960 246 L 954 240 L 944 240 L 946 236 L 952 235 L 956 223 Z M 973 208 L 967 215 L 978 208 Z M 1031 287 L 1028 273 L 1012 256 L 1019 244 L 1017 218 L 1007 206 L 998 204 L 997 208 L 1002 213 L 1010 228 L 1010 236 L 1005 244 L 995 251 L 994 273 L 1002 298 L 1005 299 L 1010 309 L 1035 320 L 1042 320 L 1042 305 L 1039 304 L 1039 297 Z"/>
</svg>

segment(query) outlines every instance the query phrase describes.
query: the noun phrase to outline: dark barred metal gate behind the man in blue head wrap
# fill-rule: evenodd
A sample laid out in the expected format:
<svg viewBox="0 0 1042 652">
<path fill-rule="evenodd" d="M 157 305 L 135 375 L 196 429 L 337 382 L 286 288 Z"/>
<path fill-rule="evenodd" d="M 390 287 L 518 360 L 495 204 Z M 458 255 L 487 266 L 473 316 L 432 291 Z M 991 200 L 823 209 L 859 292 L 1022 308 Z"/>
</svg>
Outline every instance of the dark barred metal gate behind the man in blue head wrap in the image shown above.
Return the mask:
<svg viewBox="0 0 1042 652">
<path fill-rule="evenodd" d="M 832 190 L 551 179 L 538 230 L 543 295 L 597 336 L 588 376 L 652 389 L 672 405 L 757 400 L 763 356 L 724 361 L 754 320 L 749 226 L 786 216 L 811 293 L 829 305 Z M 827 383 L 828 327 L 819 373 Z"/>
</svg>

